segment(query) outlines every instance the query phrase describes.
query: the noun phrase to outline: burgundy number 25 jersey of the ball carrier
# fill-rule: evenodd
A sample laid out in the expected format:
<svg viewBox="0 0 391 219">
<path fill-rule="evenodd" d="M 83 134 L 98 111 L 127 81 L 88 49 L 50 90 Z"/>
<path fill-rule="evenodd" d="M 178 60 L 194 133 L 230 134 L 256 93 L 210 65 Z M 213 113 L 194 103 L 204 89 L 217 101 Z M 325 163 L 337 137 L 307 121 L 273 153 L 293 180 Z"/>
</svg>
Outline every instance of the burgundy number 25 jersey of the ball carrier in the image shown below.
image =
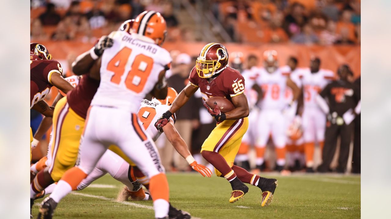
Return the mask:
<svg viewBox="0 0 391 219">
<path fill-rule="evenodd" d="M 231 101 L 231 97 L 244 92 L 243 76 L 229 66 L 210 82 L 206 78 L 200 78 L 193 67 L 189 81 L 193 86 L 199 87 L 204 101 L 210 97 L 225 97 Z"/>
</svg>

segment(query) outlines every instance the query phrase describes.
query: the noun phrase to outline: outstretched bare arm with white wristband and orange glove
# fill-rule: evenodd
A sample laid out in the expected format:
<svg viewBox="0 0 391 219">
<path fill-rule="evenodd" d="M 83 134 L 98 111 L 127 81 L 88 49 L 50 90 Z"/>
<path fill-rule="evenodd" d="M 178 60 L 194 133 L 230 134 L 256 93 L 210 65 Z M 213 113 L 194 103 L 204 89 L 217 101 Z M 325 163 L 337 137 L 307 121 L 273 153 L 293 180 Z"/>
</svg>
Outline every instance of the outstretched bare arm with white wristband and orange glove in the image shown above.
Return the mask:
<svg viewBox="0 0 391 219">
<path fill-rule="evenodd" d="M 178 131 L 174 126 L 174 122 L 171 120 L 167 125 L 163 127 L 163 132 L 167 137 L 167 140 L 170 141 L 175 150 L 186 159 L 188 164 L 197 172 L 201 173 L 203 177 L 211 177 L 212 171 L 209 170 L 206 166 L 197 163 L 194 157 L 190 154 L 189 148 L 186 145 L 185 140 L 179 135 Z"/>
</svg>

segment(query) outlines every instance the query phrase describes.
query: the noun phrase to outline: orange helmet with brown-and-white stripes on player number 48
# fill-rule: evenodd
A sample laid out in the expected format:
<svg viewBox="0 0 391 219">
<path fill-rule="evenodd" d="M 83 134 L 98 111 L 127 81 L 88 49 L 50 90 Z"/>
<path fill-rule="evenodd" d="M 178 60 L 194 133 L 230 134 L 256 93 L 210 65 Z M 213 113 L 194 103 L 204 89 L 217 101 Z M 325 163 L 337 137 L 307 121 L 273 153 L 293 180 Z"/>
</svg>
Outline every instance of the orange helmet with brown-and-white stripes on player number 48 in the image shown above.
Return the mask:
<svg viewBox="0 0 391 219">
<path fill-rule="evenodd" d="M 136 17 L 131 32 L 145 36 L 161 46 L 167 36 L 166 21 L 159 12 L 144 11 Z"/>
</svg>

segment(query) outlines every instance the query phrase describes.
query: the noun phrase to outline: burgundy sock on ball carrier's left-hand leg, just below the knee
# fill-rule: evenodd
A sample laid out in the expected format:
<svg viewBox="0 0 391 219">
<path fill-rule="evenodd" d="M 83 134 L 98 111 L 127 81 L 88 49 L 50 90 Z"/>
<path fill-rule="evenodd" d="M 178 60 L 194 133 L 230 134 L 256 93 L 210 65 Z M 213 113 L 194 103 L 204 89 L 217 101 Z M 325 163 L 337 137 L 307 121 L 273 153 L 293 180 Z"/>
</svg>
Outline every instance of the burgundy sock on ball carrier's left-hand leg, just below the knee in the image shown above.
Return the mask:
<svg viewBox="0 0 391 219">
<path fill-rule="evenodd" d="M 210 164 L 212 164 L 228 181 L 236 177 L 235 172 L 232 171 L 231 167 L 221 154 L 206 150 L 202 151 L 201 154 L 206 161 L 210 162 Z"/>
</svg>

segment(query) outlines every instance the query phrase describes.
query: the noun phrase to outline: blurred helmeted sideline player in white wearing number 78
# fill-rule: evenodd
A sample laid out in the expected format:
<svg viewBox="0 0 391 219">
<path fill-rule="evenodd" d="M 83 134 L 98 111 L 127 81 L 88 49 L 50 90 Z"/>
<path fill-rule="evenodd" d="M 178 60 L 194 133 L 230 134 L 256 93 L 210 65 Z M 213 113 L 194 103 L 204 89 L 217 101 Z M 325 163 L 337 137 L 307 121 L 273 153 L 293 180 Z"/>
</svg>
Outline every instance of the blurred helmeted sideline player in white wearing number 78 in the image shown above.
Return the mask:
<svg viewBox="0 0 391 219">
<path fill-rule="evenodd" d="M 255 85 L 262 89 L 262 101 L 258 102 L 260 113 L 258 117 L 256 140 L 256 166 L 261 171 L 265 169 L 264 153 L 269 135 L 271 134 L 276 150 L 276 170 L 282 171 L 285 166 L 286 125 L 283 111 L 289 110 L 299 97 L 300 90 L 278 67 L 277 52 L 264 52 L 264 67 L 253 72 L 256 75 Z M 293 98 L 290 103 L 285 101 L 285 90 L 292 89 Z"/>
</svg>

